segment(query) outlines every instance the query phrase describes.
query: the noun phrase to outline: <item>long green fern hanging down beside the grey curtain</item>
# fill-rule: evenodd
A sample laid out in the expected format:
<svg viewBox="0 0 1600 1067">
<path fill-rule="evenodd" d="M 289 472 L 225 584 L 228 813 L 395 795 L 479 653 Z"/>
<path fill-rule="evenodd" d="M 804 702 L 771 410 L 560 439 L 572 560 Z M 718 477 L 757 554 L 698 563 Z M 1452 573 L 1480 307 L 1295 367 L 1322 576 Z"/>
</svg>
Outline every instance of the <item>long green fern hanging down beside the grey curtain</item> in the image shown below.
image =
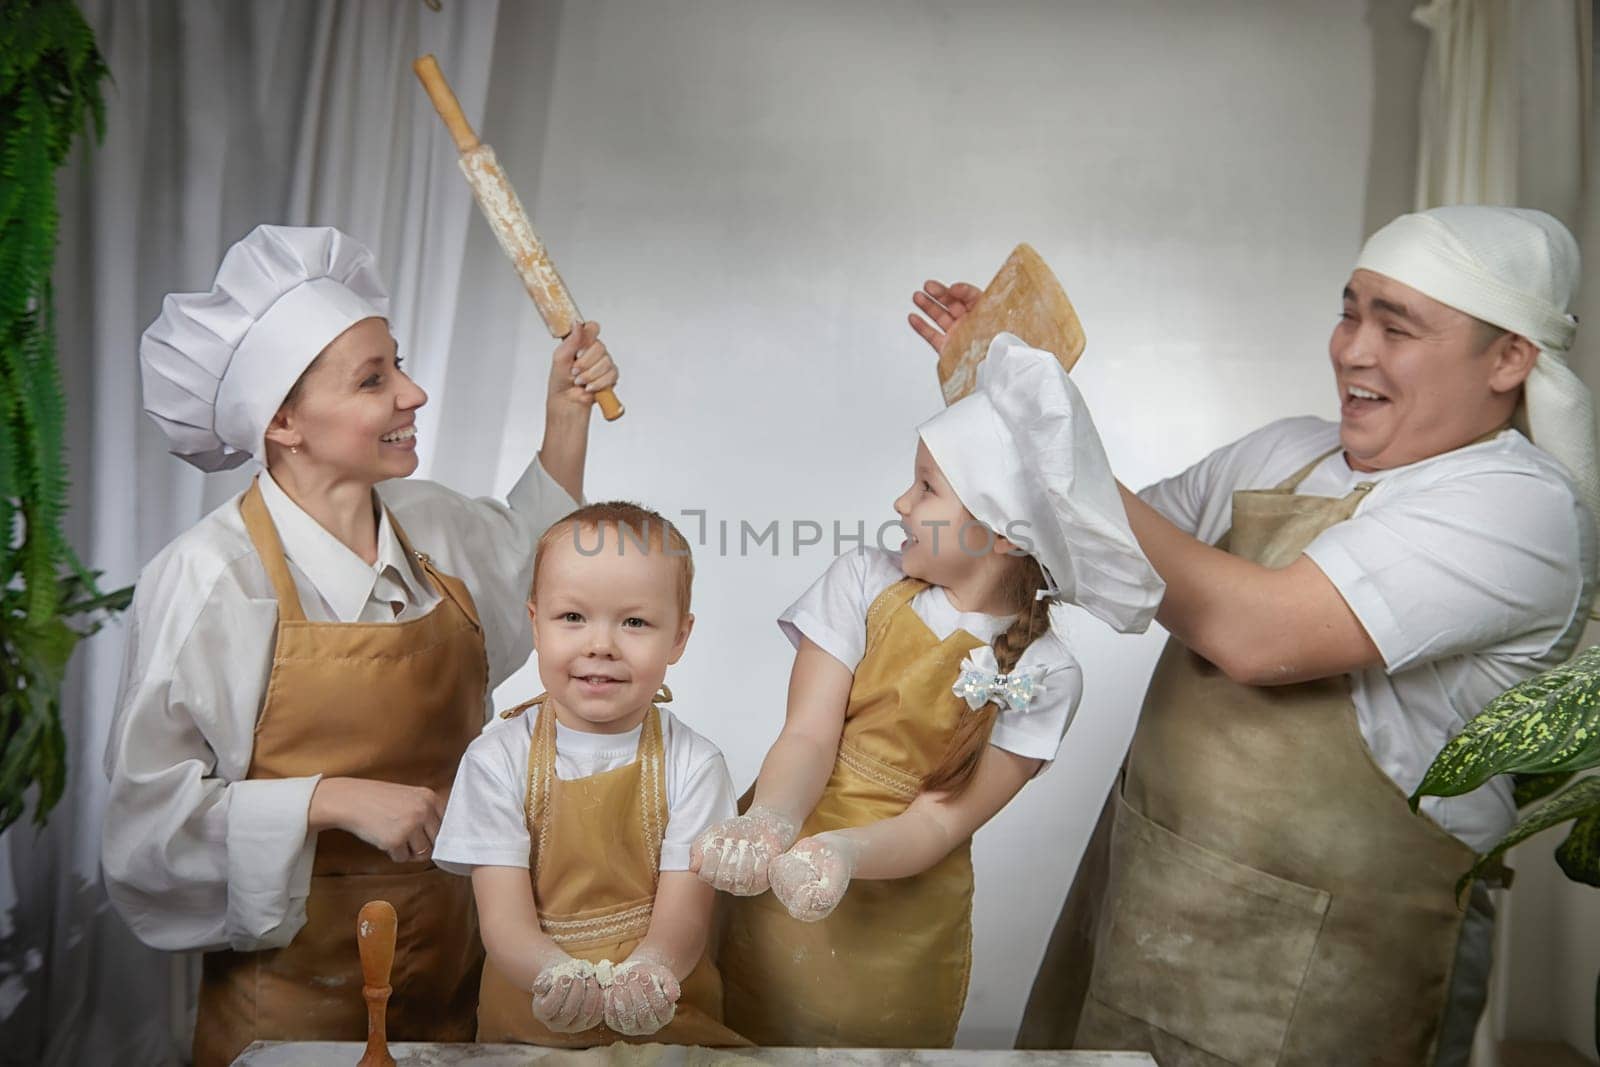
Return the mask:
<svg viewBox="0 0 1600 1067">
<path fill-rule="evenodd" d="M 61 683 L 78 640 L 131 590 L 102 595 L 67 545 L 50 272 L 56 170 L 93 122 L 104 134 L 106 62 L 70 0 L 0 5 L 0 830 L 38 785 L 43 824 L 66 785 Z"/>
</svg>

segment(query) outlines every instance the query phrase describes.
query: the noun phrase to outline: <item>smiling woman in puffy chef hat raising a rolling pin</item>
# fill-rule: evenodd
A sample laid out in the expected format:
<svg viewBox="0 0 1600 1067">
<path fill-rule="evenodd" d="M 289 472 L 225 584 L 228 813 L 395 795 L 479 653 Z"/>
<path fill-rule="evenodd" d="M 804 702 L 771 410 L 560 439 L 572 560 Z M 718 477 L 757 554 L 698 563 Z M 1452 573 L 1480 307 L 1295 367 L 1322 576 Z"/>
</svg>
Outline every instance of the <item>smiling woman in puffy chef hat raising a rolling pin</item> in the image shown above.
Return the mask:
<svg viewBox="0 0 1600 1067">
<path fill-rule="evenodd" d="M 429 856 L 488 694 L 528 654 L 534 544 L 581 496 L 616 370 L 592 323 L 555 350 L 544 445 L 507 504 L 389 482 L 416 470 L 427 397 L 387 304 L 347 235 L 261 226 L 139 349 L 174 454 L 266 464 L 139 576 L 106 757 L 112 902 L 147 944 L 206 952 L 200 1065 L 258 1038 L 362 1038 L 373 897 L 400 913 L 390 1033 L 475 1025 L 470 886 Z"/>
</svg>

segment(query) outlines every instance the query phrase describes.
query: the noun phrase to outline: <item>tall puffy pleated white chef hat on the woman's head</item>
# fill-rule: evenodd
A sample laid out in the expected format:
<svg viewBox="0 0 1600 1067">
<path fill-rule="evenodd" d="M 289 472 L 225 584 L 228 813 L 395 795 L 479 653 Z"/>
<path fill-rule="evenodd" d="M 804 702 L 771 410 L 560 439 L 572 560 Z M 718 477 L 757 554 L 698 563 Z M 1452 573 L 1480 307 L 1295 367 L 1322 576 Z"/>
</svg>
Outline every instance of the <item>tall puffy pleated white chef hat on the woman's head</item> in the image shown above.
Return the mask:
<svg viewBox="0 0 1600 1067">
<path fill-rule="evenodd" d="M 139 339 L 144 410 L 174 456 L 237 467 L 317 354 L 373 317 L 389 317 L 389 293 L 365 245 L 331 226 L 258 226 L 210 293 L 162 301 Z"/>
</svg>

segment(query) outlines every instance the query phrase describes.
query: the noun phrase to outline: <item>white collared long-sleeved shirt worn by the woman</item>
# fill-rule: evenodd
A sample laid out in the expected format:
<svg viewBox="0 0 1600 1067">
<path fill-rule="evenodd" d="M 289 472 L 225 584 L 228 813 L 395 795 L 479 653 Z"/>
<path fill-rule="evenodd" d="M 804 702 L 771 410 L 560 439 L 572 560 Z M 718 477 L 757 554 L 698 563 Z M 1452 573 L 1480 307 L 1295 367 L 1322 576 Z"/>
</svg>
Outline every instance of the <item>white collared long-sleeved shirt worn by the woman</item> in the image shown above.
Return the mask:
<svg viewBox="0 0 1600 1067">
<path fill-rule="evenodd" d="M 261 478 L 290 574 L 314 622 L 408 619 L 438 597 L 387 518 L 378 563 L 339 544 Z M 490 689 L 526 661 L 533 550 L 576 507 L 530 464 L 507 504 L 421 480 L 378 496 L 411 544 L 466 582 L 483 622 Z M 117 715 L 106 747 L 110 797 L 101 862 L 112 904 L 157 949 L 269 949 L 306 923 L 318 776 L 246 781 L 277 629 L 272 581 L 238 498 L 162 549 L 134 590 Z M 485 702 L 485 715 L 493 709 Z"/>
</svg>

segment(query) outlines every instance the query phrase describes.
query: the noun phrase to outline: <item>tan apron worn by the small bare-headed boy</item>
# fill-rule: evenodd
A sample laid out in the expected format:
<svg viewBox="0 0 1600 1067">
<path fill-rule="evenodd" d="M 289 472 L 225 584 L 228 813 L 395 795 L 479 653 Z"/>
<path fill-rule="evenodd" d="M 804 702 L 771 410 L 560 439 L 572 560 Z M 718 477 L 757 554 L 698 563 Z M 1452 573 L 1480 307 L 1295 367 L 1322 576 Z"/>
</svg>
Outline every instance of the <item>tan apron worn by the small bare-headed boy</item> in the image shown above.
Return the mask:
<svg viewBox="0 0 1600 1067">
<path fill-rule="evenodd" d="M 650 933 L 667 830 L 667 785 L 661 713 L 651 705 L 638 733 L 638 758 L 589 777 L 555 776 L 555 713 L 544 697 L 504 713 L 539 705 L 528 749 L 528 877 L 539 925 L 579 960 L 621 963 Z M 749 1045 L 722 1025 L 722 979 L 702 958 L 683 979 L 677 1013 L 661 1030 L 627 1037 L 603 1025 L 555 1033 L 533 1016 L 533 993 L 518 989 L 490 963 L 478 998 L 480 1041 L 522 1041 L 555 1048 L 592 1048 L 613 1041 L 658 1045 Z"/>
</svg>

